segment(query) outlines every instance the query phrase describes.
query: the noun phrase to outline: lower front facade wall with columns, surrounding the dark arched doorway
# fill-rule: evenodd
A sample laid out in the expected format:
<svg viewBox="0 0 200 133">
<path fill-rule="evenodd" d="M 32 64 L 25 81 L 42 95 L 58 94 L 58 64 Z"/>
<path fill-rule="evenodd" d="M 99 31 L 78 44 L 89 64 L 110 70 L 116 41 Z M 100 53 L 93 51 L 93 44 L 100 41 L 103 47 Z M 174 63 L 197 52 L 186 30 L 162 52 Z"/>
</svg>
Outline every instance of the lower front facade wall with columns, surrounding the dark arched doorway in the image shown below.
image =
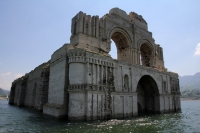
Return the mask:
<svg viewBox="0 0 200 133">
<path fill-rule="evenodd" d="M 68 55 L 69 119 L 96 120 L 137 115 L 138 102 L 144 111 L 147 105 L 150 108 L 152 104 L 145 103 L 147 97 L 139 92 L 143 87 L 157 89 L 155 92 L 152 90 L 155 102 L 153 111 L 162 113 L 174 110 L 170 78 L 178 79 L 177 74 L 105 58 L 83 49 L 69 50 Z M 140 82 L 147 75 L 149 77 Z M 180 110 L 179 106 L 177 108 Z"/>
</svg>

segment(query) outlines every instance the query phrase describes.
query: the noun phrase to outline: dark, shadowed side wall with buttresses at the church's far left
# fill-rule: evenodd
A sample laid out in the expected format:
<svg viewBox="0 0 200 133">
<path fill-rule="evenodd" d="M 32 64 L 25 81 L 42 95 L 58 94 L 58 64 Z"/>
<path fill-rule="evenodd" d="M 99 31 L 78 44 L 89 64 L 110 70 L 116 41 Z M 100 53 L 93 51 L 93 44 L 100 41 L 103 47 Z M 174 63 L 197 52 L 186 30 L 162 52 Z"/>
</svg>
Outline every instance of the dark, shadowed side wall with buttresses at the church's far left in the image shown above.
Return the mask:
<svg viewBox="0 0 200 133">
<path fill-rule="evenodd" d="M 48 85 L 49 63 L 47 62 L 13 81 L 9 103 L 42 110 L 48 98 Z"/>
</svg>

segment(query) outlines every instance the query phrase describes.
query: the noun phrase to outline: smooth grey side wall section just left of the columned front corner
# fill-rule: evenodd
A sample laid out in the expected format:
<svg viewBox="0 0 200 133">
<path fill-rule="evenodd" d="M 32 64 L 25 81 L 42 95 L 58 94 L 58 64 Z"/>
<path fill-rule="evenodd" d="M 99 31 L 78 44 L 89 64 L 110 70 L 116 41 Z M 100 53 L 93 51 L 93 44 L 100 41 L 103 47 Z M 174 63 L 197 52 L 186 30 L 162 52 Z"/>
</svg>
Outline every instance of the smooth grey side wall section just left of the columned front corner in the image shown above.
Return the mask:
<svg viewBox="0 0 200 133">
<path fill-rule="evenodd" d="M 51 56 L 48 102 L 43 110 L 45 114 L 55 117 L 67 116 L 68 73 L 67 44 L 65 44 Z"/>
</svg>

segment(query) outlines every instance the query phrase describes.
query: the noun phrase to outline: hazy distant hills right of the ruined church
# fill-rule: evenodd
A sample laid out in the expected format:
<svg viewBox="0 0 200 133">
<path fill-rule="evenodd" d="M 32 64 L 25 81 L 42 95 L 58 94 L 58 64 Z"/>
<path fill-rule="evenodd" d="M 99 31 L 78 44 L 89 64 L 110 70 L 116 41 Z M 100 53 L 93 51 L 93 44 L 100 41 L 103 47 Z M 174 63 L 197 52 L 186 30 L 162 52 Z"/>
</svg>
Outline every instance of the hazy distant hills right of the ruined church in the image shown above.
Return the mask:
<svg viewBox="0 0 200 133">
<path fill-rule="evenodd" d="M 179 77 L 182 98 L 200 99 L 200 72 Z"/>
</svg>

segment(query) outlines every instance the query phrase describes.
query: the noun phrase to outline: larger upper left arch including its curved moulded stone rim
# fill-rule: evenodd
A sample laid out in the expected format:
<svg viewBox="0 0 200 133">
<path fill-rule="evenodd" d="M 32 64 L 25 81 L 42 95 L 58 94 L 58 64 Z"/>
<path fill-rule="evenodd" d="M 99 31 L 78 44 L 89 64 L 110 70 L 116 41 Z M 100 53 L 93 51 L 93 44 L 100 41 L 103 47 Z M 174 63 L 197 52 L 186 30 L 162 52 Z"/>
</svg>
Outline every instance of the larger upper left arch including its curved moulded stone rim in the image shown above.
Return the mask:
<svg viewBox="0 0 200 133">
<path fill-rule="evenodd" d="M 124 61 L 131 61 L 131 47 L 132 39 L 129 33 L 120 27 L 113 27 L 108 32 L 107 37 L 114 41 L 117 48 L 117 59 Z"/>
</svg>

